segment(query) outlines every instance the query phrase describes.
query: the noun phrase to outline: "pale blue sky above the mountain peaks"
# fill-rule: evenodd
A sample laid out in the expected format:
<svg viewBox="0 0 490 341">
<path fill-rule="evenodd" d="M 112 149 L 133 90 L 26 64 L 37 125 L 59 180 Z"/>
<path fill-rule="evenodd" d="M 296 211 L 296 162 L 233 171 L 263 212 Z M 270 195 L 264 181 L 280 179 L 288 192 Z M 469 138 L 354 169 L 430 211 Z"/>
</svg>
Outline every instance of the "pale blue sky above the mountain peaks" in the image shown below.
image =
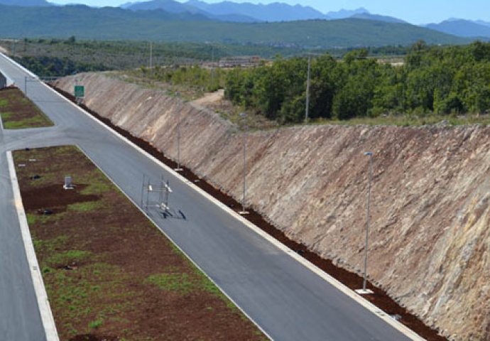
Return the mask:
<svg viewBox="0 0 490 341">
<path fill-rule="evenodd" d="M 136 0 L 48 0 L 55 4 L 76 2 L 89 6 L 119 6 L 128 1 Z M 185 0 L 178 0 L 185 2 Z M 208 3 L 222 0 L 205 0 Z M 415 24 L 438 23 L 447 18 L 465 18 L 471 20 L 490 21 L 489 0 L 232 0 L 234 2 L 251 2 L 254 4 L 270 4 L 283 2 L 294 5 L 311 6 L 324 13 L 339 9 L 357 9 L 364 7 L 371 13 L 395 16 Z"/>
</svg>

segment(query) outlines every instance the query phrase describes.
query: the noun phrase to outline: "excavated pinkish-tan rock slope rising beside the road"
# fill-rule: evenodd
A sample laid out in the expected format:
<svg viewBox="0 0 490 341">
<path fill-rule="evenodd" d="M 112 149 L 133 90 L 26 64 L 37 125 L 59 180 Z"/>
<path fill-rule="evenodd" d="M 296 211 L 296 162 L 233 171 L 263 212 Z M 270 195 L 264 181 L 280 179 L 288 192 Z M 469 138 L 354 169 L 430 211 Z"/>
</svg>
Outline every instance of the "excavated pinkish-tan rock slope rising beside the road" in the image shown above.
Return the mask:
<svg viewBox="0 0 490 341">
<path fill-rule="evenodd" d="M 243 135 L 217 114 L 104 75 L 77 75 L 87 105 L 241 197 Z M 73 80 L 58 86 L 71 91 Z M 454 340 L 490 340 L 490 128 L 305 126 L 248 138 L 249 203 L 340 266 L 369 278 Z"/>
</svg>

